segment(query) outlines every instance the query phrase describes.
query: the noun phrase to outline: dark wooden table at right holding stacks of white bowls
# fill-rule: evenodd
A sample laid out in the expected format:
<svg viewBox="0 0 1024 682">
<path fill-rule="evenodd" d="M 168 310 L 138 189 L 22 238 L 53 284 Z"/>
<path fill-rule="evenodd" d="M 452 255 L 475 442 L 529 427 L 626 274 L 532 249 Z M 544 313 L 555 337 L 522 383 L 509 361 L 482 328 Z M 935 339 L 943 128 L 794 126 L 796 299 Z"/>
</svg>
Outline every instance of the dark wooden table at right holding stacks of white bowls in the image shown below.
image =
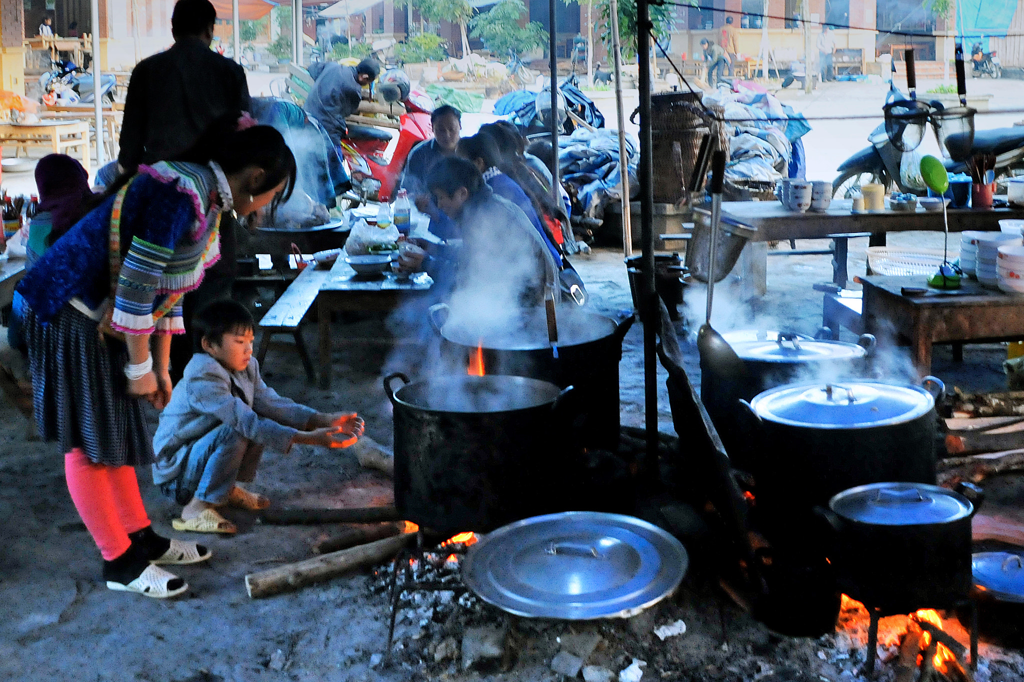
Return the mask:
<svg viewBox="0 0 1024 682">
<path fill-rule="evenodd" d="M 902 295 L 904 286 L 924 286 L 925 277 L 861 277 L 864 330 L 880 338 L 910 344 L 922 375 L 932 367 L 932 345 L 1024 338 L 1024 298 L 982 287 L 965 279 L 953 293 L 930 289 L 925 295 Z"/>
</svg>

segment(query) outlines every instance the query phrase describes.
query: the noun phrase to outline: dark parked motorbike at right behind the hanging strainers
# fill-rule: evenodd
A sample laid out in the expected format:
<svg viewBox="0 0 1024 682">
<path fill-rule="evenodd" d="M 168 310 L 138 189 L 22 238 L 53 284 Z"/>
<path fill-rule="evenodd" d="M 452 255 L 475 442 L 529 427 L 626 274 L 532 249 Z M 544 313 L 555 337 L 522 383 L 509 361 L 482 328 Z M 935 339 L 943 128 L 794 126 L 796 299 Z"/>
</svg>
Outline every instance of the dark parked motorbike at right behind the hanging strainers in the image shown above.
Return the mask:
<svg viewBox="0 0 1024 682">
<path fill-rule="evenodd" d="M 901 99 L 906 99 L 906 96 L 890 81 L 886 103 Z M 943 104 L 937 100 L 931 101 L 930 105 L 939 110 L 944 108 Z M 912 186 L 904 181 L 905 176 L 918 175 L 916 173 L 905 174 L 902 172 L 904 157 L 920 160 L 920 156 L 909 152 L 904 154 L 893 146 L 884 123 L 871 131 L 870 135 L 867 136 L 867 141 L 870 142 L 871 146 L 861 149 L 840 164 L 839 177 L 833 182 L 836 198 L 850 198 L 854 193 L 860 191 L 861 186 L 869 183 L 879 183 L 885 186 L 887 192 L 893 187 L 898 188 L 901 192 L 923 194 L 926 191 L 924 187 Z M 939 147 L 943 148 L 941 143 Z M 974 154 L 995 155 L 996 180 L 1024 171 L 1024 127 L 976 131 L 974 144 L 971 146 L 967 158 Z M 967 173 L 966 163 L 956 163 L 949 158 L 944 160 L 943 163 L 950 173 Z"/>
</svg>

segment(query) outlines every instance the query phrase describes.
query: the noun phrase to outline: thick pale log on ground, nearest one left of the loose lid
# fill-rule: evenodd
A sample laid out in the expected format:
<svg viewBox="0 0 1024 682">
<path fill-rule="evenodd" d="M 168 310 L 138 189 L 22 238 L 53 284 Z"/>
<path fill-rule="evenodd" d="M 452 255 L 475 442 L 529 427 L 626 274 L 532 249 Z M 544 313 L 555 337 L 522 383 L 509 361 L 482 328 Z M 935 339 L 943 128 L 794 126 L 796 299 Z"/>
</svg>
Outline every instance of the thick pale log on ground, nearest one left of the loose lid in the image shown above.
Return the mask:
<svg viewBox="0 0 1024 682">
<path fill-rule="evenodd" d="M 415 533 L 402 533 L 367 545 L 252 573 L 246 576 L 246 591 L 253 599 L 291 592 L 340 576 L 353 569 L 386 561 L 415 538 Z"/>
</svg>

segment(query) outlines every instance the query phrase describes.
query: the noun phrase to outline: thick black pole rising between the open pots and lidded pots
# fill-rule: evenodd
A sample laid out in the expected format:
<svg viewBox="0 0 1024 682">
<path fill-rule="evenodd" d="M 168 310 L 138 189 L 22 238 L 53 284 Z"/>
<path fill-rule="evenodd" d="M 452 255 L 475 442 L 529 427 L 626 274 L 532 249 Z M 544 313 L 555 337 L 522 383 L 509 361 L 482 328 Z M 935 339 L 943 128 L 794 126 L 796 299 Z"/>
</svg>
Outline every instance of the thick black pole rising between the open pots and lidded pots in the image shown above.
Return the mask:
<svg viewBox="0 0 1024 682">
<path fill-rule="evenodd" d="M 637 0 L 637 61 L 640 72 L 640 321 L 643 322 L 644 425 L 648 478 L 657 476 L 657 294 L 654 292 L 654 165 L 650 134 L 650 8 L 648 0 Z"/>
</svg>

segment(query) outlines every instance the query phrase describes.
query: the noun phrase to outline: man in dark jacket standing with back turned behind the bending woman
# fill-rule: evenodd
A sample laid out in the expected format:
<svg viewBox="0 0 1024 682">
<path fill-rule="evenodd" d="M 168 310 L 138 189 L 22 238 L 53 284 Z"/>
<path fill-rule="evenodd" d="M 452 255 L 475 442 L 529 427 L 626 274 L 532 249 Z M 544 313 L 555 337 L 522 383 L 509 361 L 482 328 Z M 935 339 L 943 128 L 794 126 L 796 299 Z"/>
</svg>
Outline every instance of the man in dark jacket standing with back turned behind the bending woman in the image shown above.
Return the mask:
<svg viewBox="0 0 1024 682">
<path fill-rule="evenodd" d="M 210 0 L 178 0 L 171 14 L 174 44 L 142 59 L 132 71 L 125 99 L 118 165 L 134 173 L 139 164 L 179 160 L 210 126 L 250 108 L 245 70 L 210 49 L 217 11 Z M 185 329 L 193 313 L 210 301 L 230 297 L 238 272 L 238 221 L 220 222 L 220 261 L 203 285 L 183 302 Z M 191 356 L 187 333 L 172 344 L 172 377 L 180 378 Z"/>
</svg>

